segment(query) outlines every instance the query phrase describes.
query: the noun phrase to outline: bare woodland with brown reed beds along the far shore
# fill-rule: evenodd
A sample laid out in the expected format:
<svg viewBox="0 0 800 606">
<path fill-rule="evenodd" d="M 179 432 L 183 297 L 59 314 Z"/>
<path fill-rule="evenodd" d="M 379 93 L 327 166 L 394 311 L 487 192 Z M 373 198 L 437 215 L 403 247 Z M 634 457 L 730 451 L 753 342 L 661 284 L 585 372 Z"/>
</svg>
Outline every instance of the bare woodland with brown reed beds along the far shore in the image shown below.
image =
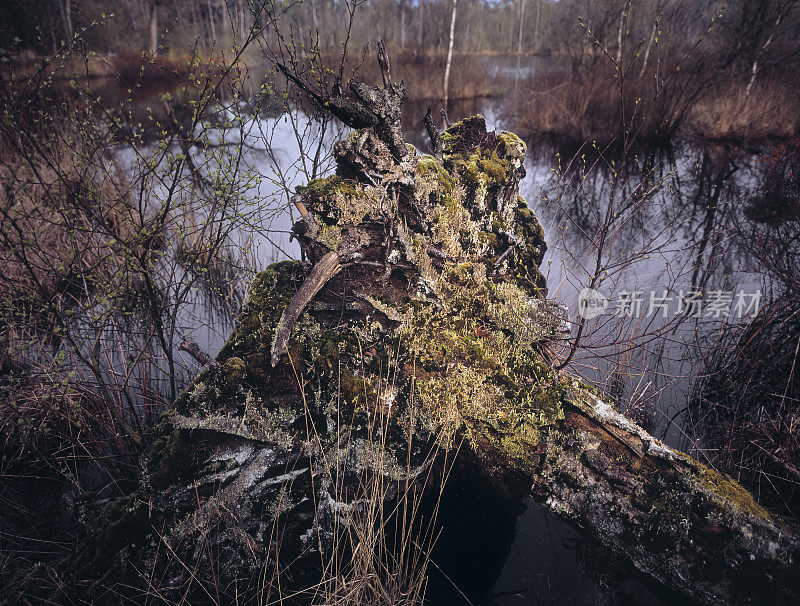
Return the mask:
<svg viewBox="0 0 800 606">
<path fill-rule="evenodd" d="M 800 132 L 798 5 L 309 0 L 282 9 L 278 31 L 263 27 L 271 9 L 262 10 L 269 3 L 259 0 L 126 0 L 113 6 L 99 0 L 11 0 L 0 7 L 0 45 L 33 60 L 71 44 L 81 32 L 82 44 L 119 69 L 142 51 L 165 61 L 198 50 L 224 55 L 254 27 L 265 42 L 283 35 L 299 55 L 319 52 L 335 63 L 352 14 L 349 48 L 355 62 L 360 49 L 382 38 L 408 98 L 435 101 L 443 97 L 453 21 L 449 98 L 511 92 L 516 103 L 509 112 L 524 134 L 606 143 L 625 138 L 625 127 L 633 124 L 636 136 L 650 141 L 668 140 L 684 126 L 710 139 L 791 138 Z M 103 26 L 93 26 L 98 22 Z M 471 59 L 504 54 L 547 61 L 518 74 L 509 91 Z"/>
</svg>

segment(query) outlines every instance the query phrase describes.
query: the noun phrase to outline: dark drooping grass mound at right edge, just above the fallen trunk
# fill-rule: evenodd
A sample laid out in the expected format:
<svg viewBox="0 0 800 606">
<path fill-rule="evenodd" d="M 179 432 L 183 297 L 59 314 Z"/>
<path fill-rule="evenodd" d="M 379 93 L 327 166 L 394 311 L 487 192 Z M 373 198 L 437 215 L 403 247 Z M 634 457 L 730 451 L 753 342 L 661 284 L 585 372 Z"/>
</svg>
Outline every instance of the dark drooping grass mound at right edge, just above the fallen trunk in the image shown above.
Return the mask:
<svg viewBox="0 0 800 606">
<path fill-rule="evenodd" d="M 714 466 L 781 514 L 800 515 L 798 301 L 769 304 L 732 330 L 687 419 Z"/>
</svg>

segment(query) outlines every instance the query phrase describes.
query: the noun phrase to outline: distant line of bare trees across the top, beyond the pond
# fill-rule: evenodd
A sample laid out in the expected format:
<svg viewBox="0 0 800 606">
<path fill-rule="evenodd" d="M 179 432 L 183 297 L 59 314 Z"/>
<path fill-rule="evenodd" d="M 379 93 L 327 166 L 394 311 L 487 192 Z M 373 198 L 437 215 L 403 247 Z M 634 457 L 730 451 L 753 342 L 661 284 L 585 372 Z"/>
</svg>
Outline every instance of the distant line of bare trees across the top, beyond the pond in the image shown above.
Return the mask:
<svg viewBox="0 0 800 606">
<path fill-rule="evenodd" d="M 288 4 L 288 7 L 286 6 Z M 448 44 L 453 0 L 6 0 L 0 3 L 0 44 L 49 52 L 96 21 L 87 41 L 94 50 L 211 47 L 270 12 L 285 12 L 298 45 L 319 35 L 323 52 L 341 47 L 355 10 L 353 47 L 383 37 L 395 49 L 442 51 Z M 543 52 L 581 55 L 600 46 L 648 60 L 659 48 L 689 51 L 701 39 L 704 54 L 757 69 L 776 60 L 796 62 L 800 49 L 798 0 L 459 0 L 456 52 Z M 112 16 L 113 15 L 113 16 Z M 123 35 L 124 34 L 124 35 Z M 597 44 L 600 42 L 600 45 Z M 622 44 L 624 46 L 625 44 Z M 624 51 L 625 49 L 622 49 Z"/>
</svg>

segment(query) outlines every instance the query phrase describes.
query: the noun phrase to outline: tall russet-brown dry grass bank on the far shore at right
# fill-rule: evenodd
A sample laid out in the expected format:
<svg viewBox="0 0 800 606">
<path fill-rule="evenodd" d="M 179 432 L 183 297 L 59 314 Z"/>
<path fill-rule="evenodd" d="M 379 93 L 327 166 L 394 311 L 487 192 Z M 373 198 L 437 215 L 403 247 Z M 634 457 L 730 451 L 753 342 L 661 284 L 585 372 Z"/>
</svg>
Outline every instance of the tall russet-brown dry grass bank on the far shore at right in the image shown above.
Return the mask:
<svg viewBox="0 0 800 606">
<path fill-rule="evenodd" d="M 574 144 L 660 144 L 676 133 L 708 140 L 788 139 L 800 133 L 800 94 L 787 82 L 753 87 L 744 82 L 712 85 L 712 75 L 675 72 L 656 90 L 653 74 L 630 74 L 622 90 L 614 74 L 540 74 L 528 80 L 510 110 L 527 135 Z M 706 84 L 708 83 L 708 84 Z"/>
</svg>

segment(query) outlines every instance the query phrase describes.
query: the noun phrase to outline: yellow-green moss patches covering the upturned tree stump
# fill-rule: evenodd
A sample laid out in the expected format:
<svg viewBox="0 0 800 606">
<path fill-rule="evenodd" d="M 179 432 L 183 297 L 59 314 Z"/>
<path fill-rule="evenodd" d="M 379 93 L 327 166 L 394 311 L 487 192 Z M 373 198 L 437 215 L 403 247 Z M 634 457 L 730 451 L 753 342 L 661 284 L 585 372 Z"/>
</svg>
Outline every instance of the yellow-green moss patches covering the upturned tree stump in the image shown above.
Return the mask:
<svg viewBox="0 0 800 606">
<path fill-rule="evenodd" d="M 344 144 L 360 138 L 354 134 Z M 428 235 L 409 232 L 408 240 L 422 278 L 437 293 L 435 302 L 398 307 L 367 298 L 375 310 L 372 319 L 331 330 L 304 314 L 289 356 L 293 372 L 307 377 L 309 405 L 339 414 L 363 414 L 379 406 L 385 391 L 379 388 L 381 376 L 392 365 L 417 368 L 419 376 L 393 379 L 396 414 L 403 402 L 415 402 L 421 411 L 417 421 L 445 440 L 463 431 L 522 460 L 563 420 L 563 394 L 553 387 L 549 365 L 536 349 L 550 336 L 549 328 L 537 315 L 528 284 L 538 272 L 543 232 L 521 198 L 511 215 L 501 213 L 495 201 L 502 187 L 515 183 L 525 144 L 510 133 L 487 134 L 481 116 L 448 129 L 443 143 L 443 163 L 429 155 L 408 163 L 417 201 L 431 218 Z M 316 231 L 307 237 L 331 250 L 342 242 L 345 227 L 352 239 L 352 228 L 385 212 L 380 190 L 341 176 L 313 180 L 298 192 L 320 219 L 311 222 Z M 509 246 L 502 234 L 511 229 L 530 246 L 519 247 L 520 254 L 512 257 L 520 267 L 495 283 L 487 275 Z M 443 268 L 434 266 L 430 246 L 444 253 Z M 287 421 L 291 411 L 281 408 L 269 387 L 269 348 L 274 326 L 301 282 L 297 265 L 273 266 L 256 278 L 234 335 L 220 353 L 221 366 L 188 392 L 195 406 L 230 402 L 244 409 L 253 431 Z M 387 332 L 376 318 L 391 320 L 396 332 Z M 244 392 L 237 392 L 245 382 Z"/>
</svg>

